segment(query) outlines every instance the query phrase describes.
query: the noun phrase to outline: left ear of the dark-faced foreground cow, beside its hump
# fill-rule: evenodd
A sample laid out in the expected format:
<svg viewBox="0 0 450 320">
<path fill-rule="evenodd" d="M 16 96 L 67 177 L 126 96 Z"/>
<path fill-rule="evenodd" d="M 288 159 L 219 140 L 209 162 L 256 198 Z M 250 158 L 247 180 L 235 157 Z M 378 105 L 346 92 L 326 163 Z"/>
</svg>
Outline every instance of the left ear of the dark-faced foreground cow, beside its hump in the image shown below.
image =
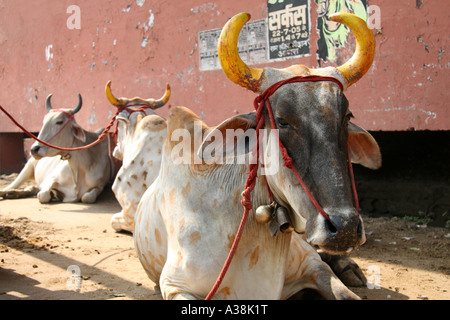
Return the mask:
<svg viewBox="0 0 450 320">
<path fill-rule="evenodd" d="M 223 163 L 224 158 L 251 151 L 256 142 L 256 112 L 233 116 L 206 132 L 198 150 L 200 159 Z"/>
</svg>

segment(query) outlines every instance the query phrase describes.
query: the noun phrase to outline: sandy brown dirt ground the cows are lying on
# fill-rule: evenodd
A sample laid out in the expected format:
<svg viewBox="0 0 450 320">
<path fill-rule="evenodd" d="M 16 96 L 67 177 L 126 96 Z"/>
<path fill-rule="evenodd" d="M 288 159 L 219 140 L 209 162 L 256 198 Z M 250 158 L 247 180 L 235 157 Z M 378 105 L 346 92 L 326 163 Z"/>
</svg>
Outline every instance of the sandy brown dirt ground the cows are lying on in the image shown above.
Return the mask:
<svg viewBox="0 0 450 320">
<path fill-rule="evenodd" d="M 0 189 L 13 177 L 2 176 Z M 110 227 L 118 211 L 110 188 L 92 205 L 0 199 L 0 300 L 161 299 L 132 236 Z M 351 288 L 356 294 L 368 300 L 450 300 L 450 229 L 363 219 L 367 242 L 352 258 L 371 288 Z"/>
</svg>

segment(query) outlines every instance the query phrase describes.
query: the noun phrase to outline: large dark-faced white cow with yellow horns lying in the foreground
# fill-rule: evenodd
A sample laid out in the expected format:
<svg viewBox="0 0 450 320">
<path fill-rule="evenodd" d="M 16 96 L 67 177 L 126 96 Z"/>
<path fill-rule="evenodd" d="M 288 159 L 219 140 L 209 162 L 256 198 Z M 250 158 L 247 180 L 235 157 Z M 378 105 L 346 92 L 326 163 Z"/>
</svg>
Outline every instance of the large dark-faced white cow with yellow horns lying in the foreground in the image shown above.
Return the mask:
<svg viewBox="0 0 450 320">
<path fill-rule="evenodd" d="M 237 51 L 239 32 L 249 18 L 247 13 L 233 17 L 219 39 L 222 68 L 233 82 L 261 93 L 280 80 L 298 75 L 334 78 L 286 84 L 270 98 L 279 139 L 329 219 L 319 214 L 288 168 L 280 166 L 272 175 L 258 176 L 252 192 L 253 209 L 234 259 L 213 298 L 285 299 L 311 288 L 326 299 L 357 299 L 310 244 L 334 254 L 348 254 L 365 240 L 362 221 L 354 207 L 347 142 L 352 160 L 363 165 L 378 167 L 381 155 L 374 139 L 349 122 L 348 103 L 336 82 L 342 82 L 345 88 L 368 70 L 374 55 L 374 37 L 363 20 L 339 13 L 330 19 L 346 24 L 357 41 L 353 58 L 343 66 L 252 69 L 242 62 Z M 263 128 L 269 134 L 262 136 L 262 158 L 266 165 L 276 161 L 282 164 L 278 138 L 274 138 L 277 135 L 270 134 L 275 128 L 269 121 L 267 106 L 263 112 Z M 194 137 L 198 128 L 202 136 L 208 134 L 199 148 L 195 148 L 195 142 L 174 139 L 174 133 L 180 137 L 181 131 Z M 134 232 L 137 255 L 150 279 L 160 285 L 164 299 L 209 297 L 242 218 L 241 193 L 249 172 L 249 165 L 238 161 L 240 154 L 231 157 L 233 163 L 227 158 L 225 164 L 220 164 L 223 153 L 217 150 L 245 153 L 235 137 L 244 137 L 245 132 L 255 128 L 255 113 L 237 115 L 210 128 L 189 109 L 172 108 L 161 171 L 141 199 Z M 227 130 L 236 136 L 220 139 Z M 213 142 L 212 136 L 217 138 Z M 214 144 L 223 144 L 222 149 L 211 148 Z M 208 154 L 207 149 L 216 151 Z M 183 155 L 191 154 L 190 163 L 180 163 L 180 150 Z M 198 158 L 197 152 L 203 159 Z M 219 157 L 217 163 L 207 164 L 214 157 Z M 270 202 L 266 178 L 274 200 L 287 210 L 295 233 L 278 232 L 273 236 L 269 232 L 272 223 L 256 218 L 255 209 Z M 310 244 L 297 233 L 305 234 Z"/>
</svg>

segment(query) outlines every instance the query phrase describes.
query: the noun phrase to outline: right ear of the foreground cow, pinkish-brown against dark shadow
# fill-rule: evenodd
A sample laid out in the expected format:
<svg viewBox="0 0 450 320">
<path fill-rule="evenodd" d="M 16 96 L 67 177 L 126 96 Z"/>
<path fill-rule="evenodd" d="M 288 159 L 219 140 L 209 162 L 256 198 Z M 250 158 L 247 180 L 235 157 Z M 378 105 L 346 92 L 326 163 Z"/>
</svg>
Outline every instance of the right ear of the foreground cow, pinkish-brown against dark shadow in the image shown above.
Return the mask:
<svg viewBox="0 0 450 320">
<path fill-rule="evenodd" d="M 378 143 L 370 133 L 351 122 L 348 125 L 348 145 L 353 163 L 359 163 L 373 170 L 381 167 Z"/>
</svg>

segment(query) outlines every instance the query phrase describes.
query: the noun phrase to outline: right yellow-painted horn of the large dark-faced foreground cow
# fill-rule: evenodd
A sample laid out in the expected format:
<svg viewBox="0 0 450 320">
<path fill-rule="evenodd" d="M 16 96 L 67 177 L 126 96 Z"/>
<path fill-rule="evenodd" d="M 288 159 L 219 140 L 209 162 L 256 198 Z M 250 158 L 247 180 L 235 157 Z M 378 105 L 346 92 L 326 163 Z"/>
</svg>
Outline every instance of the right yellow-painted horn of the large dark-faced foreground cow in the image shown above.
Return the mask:
<svg viewBox="0 0 450 320">
<path fill-rule="evenodd" d="M 347 86 L 356 83 L 369 70 L 375 56 L 375 37 L 366 22 L 347 12 L 337 12 L 328 16 L 331 21 L 345 24 L 355 35 L 356 49 L 353 56 L 337 67 L 347 81 Z"/>
</svg>

